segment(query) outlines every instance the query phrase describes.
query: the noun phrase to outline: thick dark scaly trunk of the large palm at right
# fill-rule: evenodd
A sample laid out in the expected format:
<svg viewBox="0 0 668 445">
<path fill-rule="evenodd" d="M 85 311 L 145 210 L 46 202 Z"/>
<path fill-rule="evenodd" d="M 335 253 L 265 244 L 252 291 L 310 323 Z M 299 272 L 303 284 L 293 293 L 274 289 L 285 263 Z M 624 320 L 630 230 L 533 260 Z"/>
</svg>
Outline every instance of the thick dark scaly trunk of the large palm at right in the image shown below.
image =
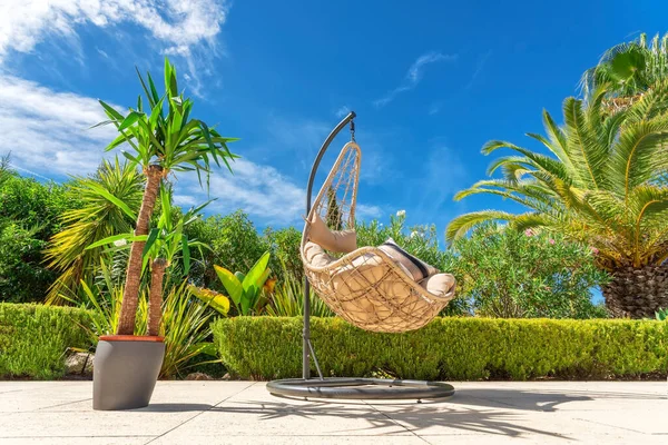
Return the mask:
<svg viewBox="0 0 668 445">
<path fill-rule="evenodd" d="M 659 308 L 668 307 L 668 267 L 620 267 L 603 287 L 606 306 L 616 317 L 655 317 Z"/>
</svg>

